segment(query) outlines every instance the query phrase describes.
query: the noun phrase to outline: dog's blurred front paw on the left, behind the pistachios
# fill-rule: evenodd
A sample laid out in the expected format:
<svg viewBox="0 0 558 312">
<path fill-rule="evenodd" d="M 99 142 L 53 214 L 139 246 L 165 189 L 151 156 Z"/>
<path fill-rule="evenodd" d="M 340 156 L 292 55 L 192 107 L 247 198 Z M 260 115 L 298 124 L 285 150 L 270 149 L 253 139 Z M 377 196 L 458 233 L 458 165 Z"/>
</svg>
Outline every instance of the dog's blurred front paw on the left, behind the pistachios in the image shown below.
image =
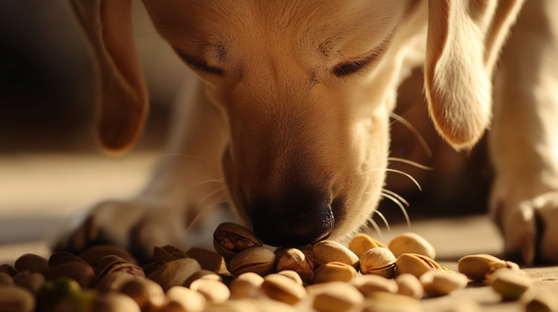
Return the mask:
<svg viewBox="0 0 558 312">
<path fill-rule="evenodd" d="M 116 244 L 149 258 L 155 246 L 184 240 L 184 221 L 176 209 L 142 201 L 105 201 L 73 220 L 77 226 L 64 233 L 54 251 L 80 252 L 92 244 Z"/>
</svg>

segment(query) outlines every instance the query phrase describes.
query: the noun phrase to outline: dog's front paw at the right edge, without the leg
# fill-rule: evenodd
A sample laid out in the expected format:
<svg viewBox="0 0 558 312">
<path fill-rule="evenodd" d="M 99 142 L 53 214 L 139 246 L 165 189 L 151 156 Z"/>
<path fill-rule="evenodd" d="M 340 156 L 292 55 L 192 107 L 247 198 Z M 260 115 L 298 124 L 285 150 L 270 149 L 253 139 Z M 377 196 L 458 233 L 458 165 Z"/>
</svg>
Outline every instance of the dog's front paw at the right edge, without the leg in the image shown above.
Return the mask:
<svg viewBox="0 0 558 312">
<path fill-rule="evenodd" d="M 526 201 L 500 198 L 491 212 L 504 234 L 508 255 L 520 256 L 527 265 L 558 263 L 558 192 Z"/>
</svg>

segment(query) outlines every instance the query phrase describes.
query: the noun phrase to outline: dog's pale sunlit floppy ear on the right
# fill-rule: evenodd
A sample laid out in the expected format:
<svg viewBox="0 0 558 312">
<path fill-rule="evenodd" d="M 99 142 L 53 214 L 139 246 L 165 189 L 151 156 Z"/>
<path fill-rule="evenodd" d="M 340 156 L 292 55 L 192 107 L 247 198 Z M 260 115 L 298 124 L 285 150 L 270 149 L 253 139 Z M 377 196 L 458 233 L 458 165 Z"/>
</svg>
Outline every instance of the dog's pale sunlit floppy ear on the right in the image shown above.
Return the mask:
<svg viewBox="0 0 558 312">
<path fill-rule="evenodd" d="M 428 109 L 456 150 L 472 148 L 490 124 L 492 70 L 523 1 L 428 1 Z"/>
</svg>

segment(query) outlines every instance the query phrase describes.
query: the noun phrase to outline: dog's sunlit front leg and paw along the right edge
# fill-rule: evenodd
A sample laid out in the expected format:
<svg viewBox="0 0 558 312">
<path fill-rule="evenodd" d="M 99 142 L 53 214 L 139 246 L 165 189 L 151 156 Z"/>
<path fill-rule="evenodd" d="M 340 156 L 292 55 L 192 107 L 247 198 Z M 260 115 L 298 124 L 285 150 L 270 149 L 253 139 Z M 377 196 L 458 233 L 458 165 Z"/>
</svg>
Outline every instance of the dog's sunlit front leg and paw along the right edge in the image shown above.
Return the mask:
<svg viewBox="0 0 558 312">
<path fill-rule="evenodd" d="M 506 251 L 558 262 L 558 2 L 526 1 L 495 82 L 490 212 Z"/>
</svg>

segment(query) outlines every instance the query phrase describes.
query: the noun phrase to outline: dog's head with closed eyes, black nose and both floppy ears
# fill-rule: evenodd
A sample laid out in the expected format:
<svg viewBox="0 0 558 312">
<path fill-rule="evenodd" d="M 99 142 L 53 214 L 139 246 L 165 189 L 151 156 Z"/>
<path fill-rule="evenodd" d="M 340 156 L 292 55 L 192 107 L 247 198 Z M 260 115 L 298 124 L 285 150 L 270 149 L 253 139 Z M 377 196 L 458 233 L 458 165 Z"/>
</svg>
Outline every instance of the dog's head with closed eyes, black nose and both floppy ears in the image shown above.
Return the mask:
<svg viewBox="0 0 558 312">
<path fill-rule="evenodd" d="M 489 123 L 492 66 L 517 3 L 144 0 L 222 111 L 230 198 L 272 245 L 340 237 L 368 219 L 384 183 L 400 68 L 426 24 L 432 119 L 455 148 L 470 148 Z M 147 110 L 130 1 L 73 4 L 100 70 L 100 143 L 126 150 Z"/>
</svg>

